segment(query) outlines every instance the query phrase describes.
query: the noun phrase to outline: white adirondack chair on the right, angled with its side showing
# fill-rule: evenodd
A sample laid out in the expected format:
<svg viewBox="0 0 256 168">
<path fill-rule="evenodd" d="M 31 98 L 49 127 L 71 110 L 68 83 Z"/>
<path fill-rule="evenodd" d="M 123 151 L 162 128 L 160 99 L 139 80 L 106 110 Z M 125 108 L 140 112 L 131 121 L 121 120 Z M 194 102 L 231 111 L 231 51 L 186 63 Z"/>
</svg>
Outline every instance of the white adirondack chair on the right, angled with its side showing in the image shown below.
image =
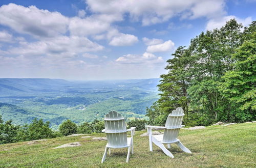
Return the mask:
<svg viewBox="0 0 256 168">
<path fill-rule="evenodd" d="M 155 145 L 161 148 L 167 156 L 174 158 L 173 154 L 165 148 L 164 144 L 167 144 L 167 148 L 170 149 L 170 144 L 175 143 L 180 147 L 182 151 L 186 153 L 191 153 L 189 149 L 182 145 L 180 140 L 177 138 L 180 129 L 184 126 L 181 125 L 183 116 L 183 109 L 181 107 L 178 107 L 176 110 L 173 110 L 172 113 L 168 115 L 165 127 L 150 125 L 145 126 L 147 128 L 148 136 L 150 138 L 150 151 L 153 151 L 153 142 Z M 164 129 L 164 134 L 152 135 L 152 128 Z"/>
</svg>

